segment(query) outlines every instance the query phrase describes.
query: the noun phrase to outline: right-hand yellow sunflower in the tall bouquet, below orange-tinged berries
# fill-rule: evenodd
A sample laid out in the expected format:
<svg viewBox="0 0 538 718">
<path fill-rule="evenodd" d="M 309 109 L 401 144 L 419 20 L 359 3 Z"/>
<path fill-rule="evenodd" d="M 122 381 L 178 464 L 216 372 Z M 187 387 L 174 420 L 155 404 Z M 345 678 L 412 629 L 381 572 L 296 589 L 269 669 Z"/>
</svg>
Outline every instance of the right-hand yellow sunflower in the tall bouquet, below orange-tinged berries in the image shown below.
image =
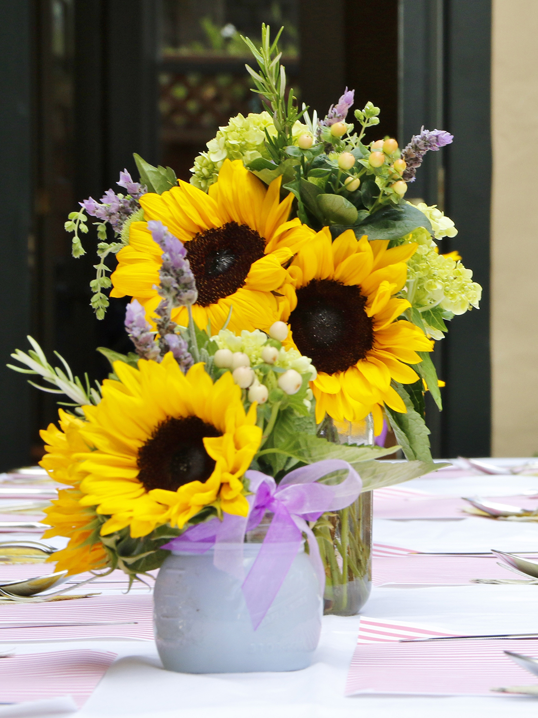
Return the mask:
<svg viewBox="0 0 538 718">
<path fill-rule="evenodd" d="M 288 342 L 312 359 L 316 420 L 325 413 L 337 421 L 361 421 L 372 412 L 381 431 L 381 406 L 406 412 L 391 387 L 418 380 L 408 364 L 421 361 L 417 351 L 433 342 L 410 322 L 397 320 L 411 305 L 394 297 L 405 284 L 406 261 L 417 248 L 389 242 L 357 241 L 352 230 L 331 242 L 328 228 L 303 246 L 289 267 L 294 289 L 284 320 Z"/>
</svg>

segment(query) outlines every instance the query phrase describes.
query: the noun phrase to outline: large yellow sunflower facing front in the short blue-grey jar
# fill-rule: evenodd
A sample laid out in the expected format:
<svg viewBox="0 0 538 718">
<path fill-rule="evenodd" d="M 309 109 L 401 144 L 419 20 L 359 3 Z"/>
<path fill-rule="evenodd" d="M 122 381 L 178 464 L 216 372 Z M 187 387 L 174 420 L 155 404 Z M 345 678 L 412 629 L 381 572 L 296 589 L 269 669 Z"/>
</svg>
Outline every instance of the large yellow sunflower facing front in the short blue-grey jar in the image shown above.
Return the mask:
<svg viewBox="0 0 538 718">
<path fill-rule="evenodd" d="M 172 353 L 139 369 L 114 363 L 120 381 L 103 382 L 103 399 L 85 406 L 80 434 L 81 505 L 109 516 L 101 535 L 130 526 L 147 536 L 185 522 L 208 505 L 246 516 L 241 477 L 261 442 L 256 404 L 246 414 L 230 372 L 213 384 L 203 363 L 184 376 Z"/>
</svg>

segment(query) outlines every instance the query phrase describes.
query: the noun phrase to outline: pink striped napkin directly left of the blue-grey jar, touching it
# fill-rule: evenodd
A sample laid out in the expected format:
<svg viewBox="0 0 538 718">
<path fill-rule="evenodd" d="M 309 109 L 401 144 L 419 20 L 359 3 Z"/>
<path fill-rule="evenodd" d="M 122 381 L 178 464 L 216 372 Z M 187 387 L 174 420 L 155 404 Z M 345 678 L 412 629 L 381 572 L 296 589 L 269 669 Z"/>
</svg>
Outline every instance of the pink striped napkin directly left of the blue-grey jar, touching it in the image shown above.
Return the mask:
<svg viewBox="0 0 538 718">
<path fill-rule="evenodd" d="M 91 585 L 91 584 L 90 584 Z M 0 606 L 0 641 L 132 638 L 153 640 L 151 595 Z"/>
</svg>

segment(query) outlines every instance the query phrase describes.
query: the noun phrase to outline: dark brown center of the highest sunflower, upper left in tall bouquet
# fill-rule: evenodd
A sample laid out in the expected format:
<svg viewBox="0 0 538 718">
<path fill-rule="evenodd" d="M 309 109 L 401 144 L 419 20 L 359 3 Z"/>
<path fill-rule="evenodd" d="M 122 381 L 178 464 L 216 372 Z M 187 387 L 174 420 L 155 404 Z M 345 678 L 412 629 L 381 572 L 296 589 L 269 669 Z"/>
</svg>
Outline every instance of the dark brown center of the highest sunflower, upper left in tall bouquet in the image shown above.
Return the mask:
<svg viewBox="0 0 538 718">
<path fill-rule="evenodd" d="M 187 258 L 196 280 L 198 304 L 207 307 L 237 292 L 264 250 L 264 239 L 236 222 L 197 234 L 187 243 Z"/>
</svg>

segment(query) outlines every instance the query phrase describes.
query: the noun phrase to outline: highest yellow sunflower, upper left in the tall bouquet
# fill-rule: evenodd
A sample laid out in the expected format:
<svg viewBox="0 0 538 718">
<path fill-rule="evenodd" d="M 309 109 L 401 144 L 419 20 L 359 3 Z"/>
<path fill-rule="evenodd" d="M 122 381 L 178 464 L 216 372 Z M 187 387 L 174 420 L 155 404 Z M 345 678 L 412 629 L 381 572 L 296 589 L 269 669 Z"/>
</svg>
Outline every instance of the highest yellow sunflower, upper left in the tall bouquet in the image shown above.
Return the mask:
<svg viewBox="0 0 538 718">
<path fill-rule="evenodd" d="M 187 248 L 198 288 L 193 317 L 201 329 L 208 320 L 220 329 L 233 305 L 230 329 L 269 329 L 280 319 L 282 285 L 289 281 L 282 266 L 314 233 L 300 220 L 288 221 L 293 195 L 280 202 L 281 177 L 265 187 L 241 162 L 226 160 L 206 195 L 182 182 L 162 195 L 140 198 L 145 220 L 161 220 Z M 151 320 L 159 304 L 162 250 L 152 240 L 147 221 L 129 228 L 129 246 L 118 253 L 111 297 L 139 300 Z M 172 311 L 172 320 L 187 325 L 187 309 Z"/>
</svg>

